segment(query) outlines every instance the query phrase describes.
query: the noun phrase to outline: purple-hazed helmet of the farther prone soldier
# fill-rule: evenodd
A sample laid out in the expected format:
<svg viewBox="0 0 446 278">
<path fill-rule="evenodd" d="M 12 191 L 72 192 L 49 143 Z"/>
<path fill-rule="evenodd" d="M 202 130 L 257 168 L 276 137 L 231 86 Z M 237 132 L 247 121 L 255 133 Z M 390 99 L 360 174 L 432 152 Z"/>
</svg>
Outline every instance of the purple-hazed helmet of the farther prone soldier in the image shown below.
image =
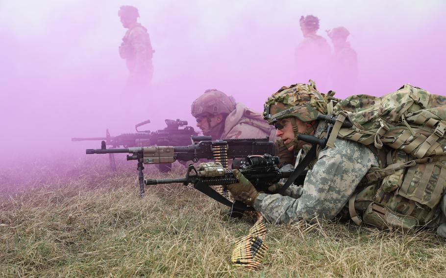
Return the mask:
<svg viewBox="0 0 446 278">
<path fill-rule="evenodd" d="M 211 115 L 230 114 L 235 109 L 235 101 L 232 96 L 216 89 L 206 90 L 193 103 L 192 116 L 197 117 L 209 113 Z"/>
</svg>

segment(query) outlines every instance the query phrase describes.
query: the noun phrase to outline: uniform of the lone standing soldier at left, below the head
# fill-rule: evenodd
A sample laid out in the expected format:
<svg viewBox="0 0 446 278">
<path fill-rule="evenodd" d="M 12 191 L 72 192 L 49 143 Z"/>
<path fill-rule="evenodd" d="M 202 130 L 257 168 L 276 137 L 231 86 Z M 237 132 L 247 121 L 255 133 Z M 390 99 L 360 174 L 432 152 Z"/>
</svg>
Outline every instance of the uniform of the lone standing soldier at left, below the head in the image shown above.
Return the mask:
<svg viewBox="0 0 446 278">
<path fill-rule="evenodd" d="M 130 71 L 129 83 L 149 84 L 153 76 L 153 49 L 147 29 L 139 23 L 129 28 L 119 47 Z"/>
</svg>

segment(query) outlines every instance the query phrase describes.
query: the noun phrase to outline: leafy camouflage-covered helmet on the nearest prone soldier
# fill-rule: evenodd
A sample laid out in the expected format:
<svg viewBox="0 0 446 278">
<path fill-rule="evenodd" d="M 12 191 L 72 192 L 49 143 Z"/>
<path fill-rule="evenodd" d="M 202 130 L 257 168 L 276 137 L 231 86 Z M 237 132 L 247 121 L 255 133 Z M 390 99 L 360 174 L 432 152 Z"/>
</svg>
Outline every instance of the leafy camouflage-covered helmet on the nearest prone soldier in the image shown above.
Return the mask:
<svg viewBox="0 0 446 278">
<path fill-rule="evenodd" d="M 273 93 L 265 102 L 263 118 L 269 124 L 293 116 L 303 122 L 311 122 L 321 113 L 327 113 L 326 100 L 310 80 L 309 84 L 298 83 Z"/>
</svg>

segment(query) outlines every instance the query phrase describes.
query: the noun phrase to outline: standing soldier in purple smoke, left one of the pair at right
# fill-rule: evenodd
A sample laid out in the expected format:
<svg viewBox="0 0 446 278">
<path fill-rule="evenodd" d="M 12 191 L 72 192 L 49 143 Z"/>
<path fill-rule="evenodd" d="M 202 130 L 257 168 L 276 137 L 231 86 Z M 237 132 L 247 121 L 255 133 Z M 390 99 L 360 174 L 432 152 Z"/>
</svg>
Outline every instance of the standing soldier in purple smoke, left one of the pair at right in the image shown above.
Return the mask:
<svg viewBox="0 0 446 278">
<path fill-rule="evenodd" d="M 301 16 L 299 24 L 303 40 L 295 52 L 296 80 L 307 82 L 312 79 L 319 85 L 319 91 L 328 91 L 331 49 L 327 41 L 316 34 L 319 19 L 313 15 Z"/>
</svg>

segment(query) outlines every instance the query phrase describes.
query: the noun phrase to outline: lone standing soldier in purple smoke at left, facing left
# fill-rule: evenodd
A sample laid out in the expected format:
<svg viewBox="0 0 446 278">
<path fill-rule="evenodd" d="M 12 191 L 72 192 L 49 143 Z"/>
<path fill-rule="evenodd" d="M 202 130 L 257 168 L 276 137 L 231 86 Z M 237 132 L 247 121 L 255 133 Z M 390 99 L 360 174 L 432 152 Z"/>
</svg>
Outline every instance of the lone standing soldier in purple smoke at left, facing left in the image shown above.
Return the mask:
<svg viewBox="0 0 446 278">
<path fill-rule="evenodd" d="M 147 29 L 137 22 L 138 9 L 133 6 L 121 6 L 118 12 L 125 32 L 123 42 L 119 46 L 119 55 L 125 59 L 130 72 L 127 90 L 144 92 L 149 88 L 153 76 L 152 57 L 154 50 L 150 43 Z"/>
</svg>

